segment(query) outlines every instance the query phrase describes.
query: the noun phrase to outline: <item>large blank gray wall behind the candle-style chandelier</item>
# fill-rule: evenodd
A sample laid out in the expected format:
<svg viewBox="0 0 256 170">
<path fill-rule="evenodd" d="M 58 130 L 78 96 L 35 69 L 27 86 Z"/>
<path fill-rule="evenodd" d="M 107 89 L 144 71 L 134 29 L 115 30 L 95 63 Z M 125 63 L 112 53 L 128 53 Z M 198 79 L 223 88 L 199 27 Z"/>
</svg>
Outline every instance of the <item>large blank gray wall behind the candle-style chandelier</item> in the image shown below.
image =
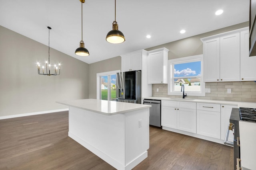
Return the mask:
<svg viewBox="0 0 256 170">
<path fill-rule="evenodd" d="M 50 49 L 59 76 L 38 75 L 36 62 L 48 60 L 48 46 L 0 26 L 0 117 L 67 108 L 57 100 L 88 98 L 89 66 Z"/>
</svg>

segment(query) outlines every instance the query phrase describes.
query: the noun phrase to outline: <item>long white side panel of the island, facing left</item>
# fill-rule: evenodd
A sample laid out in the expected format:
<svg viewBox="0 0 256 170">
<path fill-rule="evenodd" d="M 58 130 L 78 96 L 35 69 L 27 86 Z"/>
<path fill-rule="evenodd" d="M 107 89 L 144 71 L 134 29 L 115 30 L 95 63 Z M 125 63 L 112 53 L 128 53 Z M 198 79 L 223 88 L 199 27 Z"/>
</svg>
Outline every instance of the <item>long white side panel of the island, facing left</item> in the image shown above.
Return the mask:
<svg viewBox="0 0 256 170">
<path fill-rule="evenodd" d="M 68 136 L 117 169 L 125 166 L 124 114 L 102 115 L 69 107 Z"/>
</svg>

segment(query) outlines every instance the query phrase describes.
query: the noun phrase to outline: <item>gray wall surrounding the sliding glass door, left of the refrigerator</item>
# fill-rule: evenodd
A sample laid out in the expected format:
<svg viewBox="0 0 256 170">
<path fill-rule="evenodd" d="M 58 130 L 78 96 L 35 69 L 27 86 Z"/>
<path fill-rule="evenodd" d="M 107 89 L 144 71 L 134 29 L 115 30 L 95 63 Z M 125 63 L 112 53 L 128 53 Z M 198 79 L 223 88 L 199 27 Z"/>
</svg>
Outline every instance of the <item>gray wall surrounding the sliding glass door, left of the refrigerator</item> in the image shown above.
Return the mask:
<svg viewBox="0 0 256 170">
<path fill-rule="evenodd" d="M 89 64 L 89 98 L 97 98 L 97 78 L 96 74 L 100 72 L 108 72 L 114 70 L 121 70 L 121 57 L 114 57 L 111 59 L 99 61 L 97 63 Z"/>
</svg>

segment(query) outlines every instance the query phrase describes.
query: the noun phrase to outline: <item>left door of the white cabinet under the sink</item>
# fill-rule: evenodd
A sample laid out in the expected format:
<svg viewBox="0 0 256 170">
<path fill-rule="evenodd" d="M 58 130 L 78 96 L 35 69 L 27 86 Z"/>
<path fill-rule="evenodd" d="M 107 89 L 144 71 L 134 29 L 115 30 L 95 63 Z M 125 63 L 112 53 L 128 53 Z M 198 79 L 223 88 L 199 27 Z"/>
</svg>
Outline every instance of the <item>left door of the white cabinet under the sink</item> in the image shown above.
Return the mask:
<svg viewBox="0 0 256 170">
<path fill-rule="evenodd" d="M 177 108 L 162 106 L 161 125 L 177 129 Z"/>
</svg>

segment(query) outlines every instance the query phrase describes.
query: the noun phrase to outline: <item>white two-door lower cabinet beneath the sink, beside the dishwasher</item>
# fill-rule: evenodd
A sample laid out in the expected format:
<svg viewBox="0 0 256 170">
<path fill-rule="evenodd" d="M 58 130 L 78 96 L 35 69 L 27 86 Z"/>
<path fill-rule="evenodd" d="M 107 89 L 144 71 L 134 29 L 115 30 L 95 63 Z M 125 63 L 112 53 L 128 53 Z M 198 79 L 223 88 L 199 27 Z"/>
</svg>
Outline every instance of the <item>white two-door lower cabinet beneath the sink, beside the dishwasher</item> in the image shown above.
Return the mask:
<svg viewBox="0 0 256 170">
<path fill-rule="evenodd" d="M 196 103 L 162 100 L 161 125 L 196 133 Z"/>
</svg>

